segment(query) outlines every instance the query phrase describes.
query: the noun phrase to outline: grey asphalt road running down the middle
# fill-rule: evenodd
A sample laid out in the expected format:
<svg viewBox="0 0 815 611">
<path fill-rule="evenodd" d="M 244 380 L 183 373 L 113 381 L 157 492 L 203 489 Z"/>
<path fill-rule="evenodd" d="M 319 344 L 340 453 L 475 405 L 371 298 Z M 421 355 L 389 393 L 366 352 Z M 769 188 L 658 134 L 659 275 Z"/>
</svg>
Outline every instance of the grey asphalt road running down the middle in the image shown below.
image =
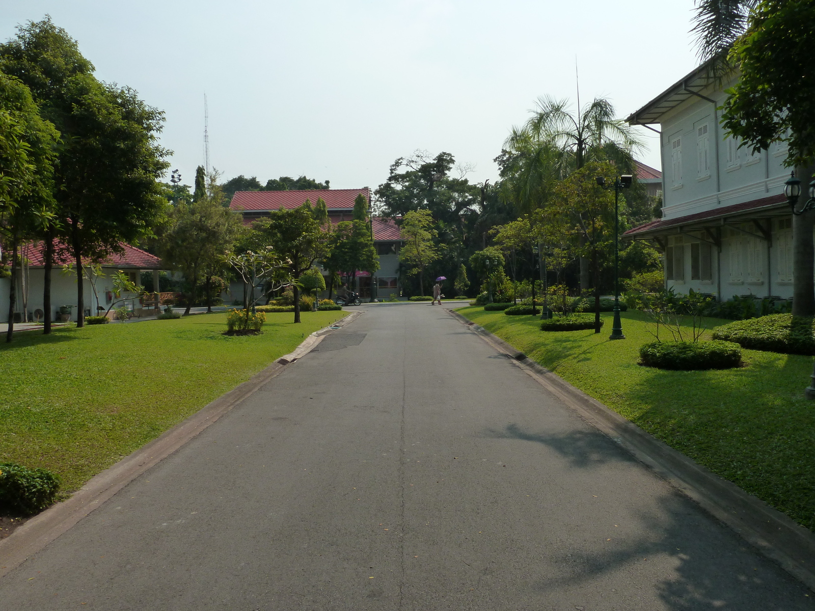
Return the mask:
<svg viewBox="0 0 815 611">
<path fill-rule="evenodd" d="M 422 303 L 370 307 L 0 580 L 3 611 L 813 603 Z"/>
</svg>

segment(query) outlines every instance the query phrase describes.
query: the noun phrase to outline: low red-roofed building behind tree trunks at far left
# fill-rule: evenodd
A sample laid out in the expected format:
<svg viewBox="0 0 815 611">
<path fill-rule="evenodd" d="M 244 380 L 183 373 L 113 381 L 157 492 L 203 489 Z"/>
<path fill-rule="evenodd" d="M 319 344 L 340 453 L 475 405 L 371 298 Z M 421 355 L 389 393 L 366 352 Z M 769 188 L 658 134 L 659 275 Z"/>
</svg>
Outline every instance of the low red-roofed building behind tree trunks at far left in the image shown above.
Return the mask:
<svg viewBox="0 0 815 611">
<path fill-rule="evenodd" d="M 130 244 L 122 242 L 120 244 L 120 252 L 112 253 L 108 258 L 101 262 L 101 274 L 96 275 L 90 268 L 86 271 L 85 281 L 83 283 L 84 301 L 85 301 L 85 315 L 90 314 L 104 314 L 104 310 L 108 310 L 108 306 L 114 301 L 112 294 L 113 284 L 111 275 L 117 270 L 124 271 L 130 276 L 130 280 L 134 284 L 142 284 L 142 272 L 152 271 L 154 274 L 154 281 L 157 279 L 159 270 L 167 269 L 162 265 L 161 259 L 148 253 L 141 248 L 136 248 Z M 25 265 L 22 269 L 17 270 L 16 278 L 16 306 L 15 311 L 19 316 L 15 315 L 15 319 L 28 318 L 36 321 L 42 321 L 43 316 L 43 302 L 42 291 L 45 287 L 45 250 L 42 242 L 29 242 L 23 244 L 20 248 L 20 259 L 25 260 Z M 64 270 L 64 266 L 70 266 L 69 270 Z M 0 322 L 8 322 L 8 299 L 10 281 L 8 278 L 0 279 L 0 303 L 3 307 L 0 308 Z M 124 303 L 124 306 L 130 310 L 142 310 L 142 304 L 137 295 L 123 295 L 122 297 L 130 297 Z M 75 262 L 73 257 L 68 254 L 68 248 L 64 248 L 62 244 L 57 244 L 55 248 L 54 268 L 51 272 L 51 307 L 55 310 L 51 313 L 51 319 L 59 321 L 60 307 L 68 306 L 70 310 L 69 319 L 77 320 L 77 275 L 75 271 Z M 27 312 L 28 316 L 23 316 L 23 312 Z"/>
</svg>

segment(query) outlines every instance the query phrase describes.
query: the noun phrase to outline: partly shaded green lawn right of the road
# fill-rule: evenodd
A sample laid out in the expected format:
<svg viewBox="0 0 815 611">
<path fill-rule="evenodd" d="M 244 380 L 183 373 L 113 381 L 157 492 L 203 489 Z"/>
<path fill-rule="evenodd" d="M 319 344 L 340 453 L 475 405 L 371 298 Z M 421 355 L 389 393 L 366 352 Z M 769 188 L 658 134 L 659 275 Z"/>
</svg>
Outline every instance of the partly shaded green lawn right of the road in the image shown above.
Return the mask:
<svg viewBox="0 0 815 611">
<path fill-rule="evenodd" d="M 746 367 L 663 371 L 637 364 L 653 341 L 645 314 L 624 312 L 625 340 L 602 332 L 541 332 L 531 316 L 458 310 L 588 395 L 721 477 L 815 529 L 813 358 L 743 350 Z M 708 319 L 707 327 L 728 321 Z M 706 337 L 705 339 L 709 339 Z"/>
</svg>

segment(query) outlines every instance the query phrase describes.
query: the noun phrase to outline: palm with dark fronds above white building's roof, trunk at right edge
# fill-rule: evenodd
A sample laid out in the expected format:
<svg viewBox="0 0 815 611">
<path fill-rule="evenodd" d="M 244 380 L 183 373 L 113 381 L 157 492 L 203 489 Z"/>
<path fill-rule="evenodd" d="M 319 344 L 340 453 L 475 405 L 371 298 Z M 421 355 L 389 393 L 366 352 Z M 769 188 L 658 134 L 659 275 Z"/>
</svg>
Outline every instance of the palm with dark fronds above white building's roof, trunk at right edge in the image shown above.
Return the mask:
<svg viewBox="0 0 815 611">
<path fill-rule="evenodd" d="M 694 28 L 699 59 L 710 62 L 716 77 L 732 75 L 738 66 L 729 61 L 728 52 L 734 43 L 747 32 L 751 11 L 759 0 L 697 0 Z M 752 144 L 752 143 L 750 143 Z M 815 173 L 815 166 L 795 168 L 801 183 L 807 185 Z M 815 211 L 793 217 L 793 278 L 792 314 L 815 315 L 815 283 L 813 283 L 813 227 Z"/>
</svg>

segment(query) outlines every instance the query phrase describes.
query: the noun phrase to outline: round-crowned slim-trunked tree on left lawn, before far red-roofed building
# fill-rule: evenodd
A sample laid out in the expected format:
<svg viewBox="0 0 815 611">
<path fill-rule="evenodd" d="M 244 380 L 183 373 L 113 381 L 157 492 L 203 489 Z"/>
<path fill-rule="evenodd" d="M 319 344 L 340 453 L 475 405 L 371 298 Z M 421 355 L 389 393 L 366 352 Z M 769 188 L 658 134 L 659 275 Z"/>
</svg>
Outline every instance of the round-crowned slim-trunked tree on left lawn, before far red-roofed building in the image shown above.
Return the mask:
<svg viewBox="0 0 815 611">
<path fill-rule="evenodd" d="M 312 214 L 303 206 L 293 210 L 280 209 L 268 218 L 253 223 L 251 242 L 271 247 L 288 261 L 289 274 L 295 281 L 294 322 L 300 322 L 300 276 L 311 269 L 326 253 L 325 235 Z"/>
</svg>

